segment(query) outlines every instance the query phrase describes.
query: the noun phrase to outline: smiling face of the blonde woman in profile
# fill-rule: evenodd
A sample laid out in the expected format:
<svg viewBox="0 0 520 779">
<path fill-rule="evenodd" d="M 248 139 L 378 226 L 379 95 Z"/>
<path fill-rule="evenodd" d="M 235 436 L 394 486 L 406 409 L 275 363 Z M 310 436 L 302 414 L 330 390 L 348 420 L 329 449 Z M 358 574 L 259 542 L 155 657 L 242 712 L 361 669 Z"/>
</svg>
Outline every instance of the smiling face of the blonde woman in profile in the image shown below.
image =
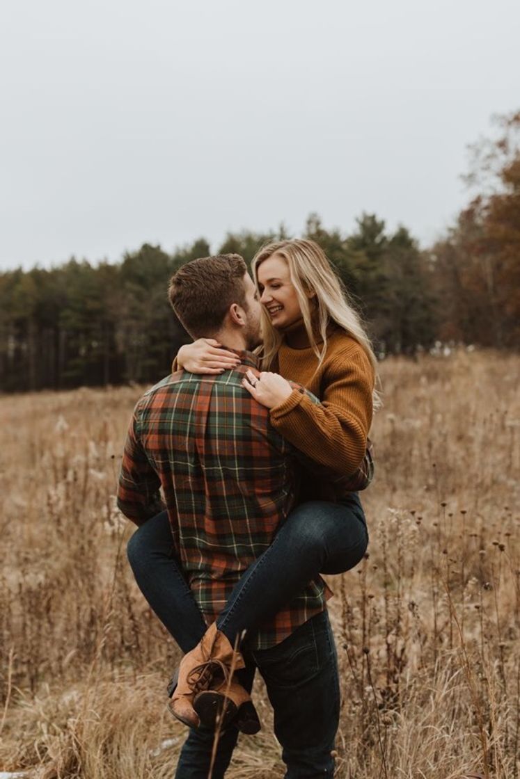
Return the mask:
<svg viewBox="0 0 520 779">
<path fill-rule="evenodd" d="M 285 259 L 273 254 L 260 263 L 256 273 L 260 303 L 267 308 L 272 325 L 277 330 L 285 330 L 302 319 L 302 309 Z"/>
</svg>

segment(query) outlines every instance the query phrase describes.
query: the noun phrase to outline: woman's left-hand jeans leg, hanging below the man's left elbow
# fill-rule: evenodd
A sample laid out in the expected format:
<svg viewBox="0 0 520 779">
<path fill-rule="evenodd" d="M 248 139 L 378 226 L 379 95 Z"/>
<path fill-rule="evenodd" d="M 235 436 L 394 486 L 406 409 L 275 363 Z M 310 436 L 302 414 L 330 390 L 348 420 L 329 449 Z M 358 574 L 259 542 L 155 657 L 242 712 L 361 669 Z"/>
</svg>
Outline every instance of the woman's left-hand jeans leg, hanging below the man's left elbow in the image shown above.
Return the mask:
<svg viewBox="0 0 520 779">
<path fill-rule="evenodd" d="M 168 512 L 136 530 L 127 554 L 141 592 L 186 654 L 199 643 L 207 625 L 175 560 Z"/>
</svg>

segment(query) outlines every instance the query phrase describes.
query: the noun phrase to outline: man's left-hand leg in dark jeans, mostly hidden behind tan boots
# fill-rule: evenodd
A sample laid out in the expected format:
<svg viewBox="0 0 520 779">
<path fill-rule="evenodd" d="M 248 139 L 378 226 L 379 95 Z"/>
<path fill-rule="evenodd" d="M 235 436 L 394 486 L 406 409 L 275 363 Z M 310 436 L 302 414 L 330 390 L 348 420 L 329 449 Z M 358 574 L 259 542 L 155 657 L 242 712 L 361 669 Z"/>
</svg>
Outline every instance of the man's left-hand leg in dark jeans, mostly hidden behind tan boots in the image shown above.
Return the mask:
<svg viewBox="0 0 520 779">
<path fill-rule="evenodd" d="M 252 662 L 246 664 L 246 668 L 237 671 L 239 682 L 246 688 L 248 693 L 253 687 L 253 678 L 255 675 L 255 665 Z M 231 761 L 233 749 L 239 731 L 231 726 L 222 733 L 218 741 L 218 749 L 214 763 L 213 779 L 222 779 L 225 771 Z M 182 746 L 175 772 L 175 779 L 207 779 L 210 770 L 211 753 L 214 745 L 214 731 L 209 728 L 193 728 L 189 731 L 189 736 Z"/>
</svg>

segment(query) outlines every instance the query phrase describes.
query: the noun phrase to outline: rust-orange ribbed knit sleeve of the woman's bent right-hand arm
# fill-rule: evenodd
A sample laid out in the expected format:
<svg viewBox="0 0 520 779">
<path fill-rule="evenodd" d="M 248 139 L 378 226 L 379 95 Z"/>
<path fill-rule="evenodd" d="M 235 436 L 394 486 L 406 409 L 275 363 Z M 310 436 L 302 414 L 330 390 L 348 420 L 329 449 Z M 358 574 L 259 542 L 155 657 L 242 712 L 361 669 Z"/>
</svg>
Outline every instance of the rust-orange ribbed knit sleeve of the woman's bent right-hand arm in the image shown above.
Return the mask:
<svg viewBox="0 0 520 779">
<path fill-rule="evenodd" d="M 271 424 L 315 462 L 340 475 L 352 474 L 365 455 L 372 422 L 373 368 L 363 349 L 335 355 L 322 386 L 320 404 L 293 390 L 271 408 Z"/>
</svg>

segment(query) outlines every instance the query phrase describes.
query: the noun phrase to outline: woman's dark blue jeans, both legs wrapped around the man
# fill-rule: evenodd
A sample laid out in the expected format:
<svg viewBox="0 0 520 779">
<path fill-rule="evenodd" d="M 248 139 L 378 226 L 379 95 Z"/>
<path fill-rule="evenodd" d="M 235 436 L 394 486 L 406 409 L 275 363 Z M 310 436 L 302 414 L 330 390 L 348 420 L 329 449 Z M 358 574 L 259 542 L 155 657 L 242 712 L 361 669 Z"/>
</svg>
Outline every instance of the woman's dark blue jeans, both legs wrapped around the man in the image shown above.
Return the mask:
<svg viewBox="0 0 520 779">
<path fill-rule="evenodd" d="M 356 492 L 341 503 L 302 503 L 235 584 L 218 616 L 218 629 L 234 644 L 237 635 L 243 630 L 253 633 L 319 573 L 342 573 L 356 566 L 367 545 L 365 516 Z M 175 559 L 168 513 L 141 525 L 127 551 L 144 597 L 182 651 L 189 652 L 207 626 Z"/>
</svg>

